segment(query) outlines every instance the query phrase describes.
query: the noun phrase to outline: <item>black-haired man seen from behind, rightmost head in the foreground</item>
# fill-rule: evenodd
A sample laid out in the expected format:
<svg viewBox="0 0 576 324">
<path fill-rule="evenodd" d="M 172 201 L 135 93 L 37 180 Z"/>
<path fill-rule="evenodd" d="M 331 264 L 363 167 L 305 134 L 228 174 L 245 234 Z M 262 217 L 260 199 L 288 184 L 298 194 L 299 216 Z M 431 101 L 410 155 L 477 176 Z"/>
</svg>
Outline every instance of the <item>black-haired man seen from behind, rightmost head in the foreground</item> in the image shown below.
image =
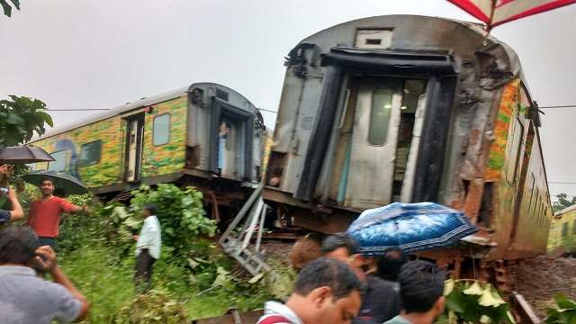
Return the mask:
<svg viewBox="0 0 576 324">
<path fill-rule="evenodd" d="M 410 261 L 402 266 L 401 315 L 386 324 L 432 324 L 444 312 L 446 274 L 428 261 Z"/>
</svg>

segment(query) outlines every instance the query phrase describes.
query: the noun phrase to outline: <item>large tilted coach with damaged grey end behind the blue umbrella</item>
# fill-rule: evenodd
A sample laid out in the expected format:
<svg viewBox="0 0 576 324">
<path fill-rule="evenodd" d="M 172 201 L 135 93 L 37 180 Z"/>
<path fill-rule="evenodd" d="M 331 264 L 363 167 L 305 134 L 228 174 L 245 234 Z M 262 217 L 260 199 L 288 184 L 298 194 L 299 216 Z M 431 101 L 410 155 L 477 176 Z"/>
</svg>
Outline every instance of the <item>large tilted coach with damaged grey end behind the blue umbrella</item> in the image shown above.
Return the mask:
<svg viewBox="0 0 576 324">
<path fill-rule="evenodd" d="M 276 226 L 330 233 L 365 209 L 440 202 L 481 229 L 469 241 L 482 260 L 545 252 L 540 115 L 518 56 L 482 26 L 359 19 L 302 40 L 285 65 L 264 191 Z M 458 269 L 469 255 L 433 252 Z"/>
</svg>

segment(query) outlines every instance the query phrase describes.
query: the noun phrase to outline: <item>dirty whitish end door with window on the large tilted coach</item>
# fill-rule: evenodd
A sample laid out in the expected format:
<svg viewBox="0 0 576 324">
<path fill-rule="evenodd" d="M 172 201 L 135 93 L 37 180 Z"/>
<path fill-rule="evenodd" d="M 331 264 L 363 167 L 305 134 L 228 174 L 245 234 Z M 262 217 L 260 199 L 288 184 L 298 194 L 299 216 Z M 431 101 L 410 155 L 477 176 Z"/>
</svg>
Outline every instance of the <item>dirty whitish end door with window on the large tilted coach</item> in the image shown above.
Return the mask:
<svg viewBox="0 0 576 324">
<path fill-rule="evenodd" d="M 391 201 L 401 122 L 401 80 L 363 78 L 356 86 L 346 200 L 356 208 Z"/>
</svg>

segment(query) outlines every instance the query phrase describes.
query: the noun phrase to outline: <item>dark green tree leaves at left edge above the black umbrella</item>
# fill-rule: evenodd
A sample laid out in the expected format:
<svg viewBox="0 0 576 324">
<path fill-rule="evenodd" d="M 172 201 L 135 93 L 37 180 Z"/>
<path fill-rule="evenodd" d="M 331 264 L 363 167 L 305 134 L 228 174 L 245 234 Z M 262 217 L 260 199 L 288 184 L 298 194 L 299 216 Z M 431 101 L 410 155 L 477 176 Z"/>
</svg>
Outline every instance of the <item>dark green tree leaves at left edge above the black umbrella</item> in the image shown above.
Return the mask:
<svg viewBox="0 0 576 324">
<path fill-rule="evenodd" d="M 34 132 L 42 135 L 44 124 L 53 126 L 52 118 L 44 112 L 45 103 L 25 96 L 10 95 L 10 99 L 0 100 L 0 147 L 29 141 Z"/>
</svg>

